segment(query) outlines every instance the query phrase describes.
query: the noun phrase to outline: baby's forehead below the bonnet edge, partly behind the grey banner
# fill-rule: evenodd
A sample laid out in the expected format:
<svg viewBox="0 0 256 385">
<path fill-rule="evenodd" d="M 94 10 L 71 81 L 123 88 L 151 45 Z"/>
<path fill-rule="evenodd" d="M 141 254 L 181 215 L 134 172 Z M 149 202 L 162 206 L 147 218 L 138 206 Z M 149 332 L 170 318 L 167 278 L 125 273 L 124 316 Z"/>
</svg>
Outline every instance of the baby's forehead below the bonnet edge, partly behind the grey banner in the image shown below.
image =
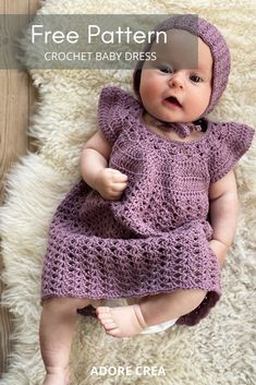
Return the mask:
<svg viewBox="0 0 256 385">
<path fill-rule="evenodd" d="M 150 48 L 157 61 L 171 62 L 176 69 L 211 68 L 212 58 L 209 47 L 196 35 L 184 29 L 166 31 Z"/>
</svg>

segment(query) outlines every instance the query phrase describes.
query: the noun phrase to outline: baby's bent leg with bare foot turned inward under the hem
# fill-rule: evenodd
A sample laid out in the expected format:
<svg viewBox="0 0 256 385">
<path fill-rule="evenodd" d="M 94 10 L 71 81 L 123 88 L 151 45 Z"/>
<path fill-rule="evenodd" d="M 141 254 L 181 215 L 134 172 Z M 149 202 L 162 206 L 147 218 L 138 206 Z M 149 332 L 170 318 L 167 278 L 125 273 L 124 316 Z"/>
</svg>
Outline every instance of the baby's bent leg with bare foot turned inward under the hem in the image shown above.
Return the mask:
<svg viewBox="0 0 256 385">
<path fill-rule="evenodd" d="M 145 327 L 179 318 L 192 312 L 204 300 L 206 291 L 200 289 L 178 289 L 142 298 L 133 305 L 120 308 L 97 308 L 97 316 L 107 334 L 114 337 L 132 337 Z"/>
</svg>

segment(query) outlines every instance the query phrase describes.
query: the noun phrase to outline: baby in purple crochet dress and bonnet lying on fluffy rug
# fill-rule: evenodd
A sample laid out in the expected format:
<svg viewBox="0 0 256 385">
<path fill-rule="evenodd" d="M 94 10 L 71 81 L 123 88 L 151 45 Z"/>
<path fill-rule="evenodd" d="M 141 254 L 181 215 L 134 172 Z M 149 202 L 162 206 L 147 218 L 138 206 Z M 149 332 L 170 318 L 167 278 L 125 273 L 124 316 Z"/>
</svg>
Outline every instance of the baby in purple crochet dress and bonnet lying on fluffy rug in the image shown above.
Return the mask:
<svg viewBox="0 0 256 385">
<path fill-rule="evenodd" d="M 254 130 L 206 118 L 230 71 L 217 28 L 180 15 L 157 29 L 168 44 L 147 47 L 157 60 L 137 64 L 136 98 L 102 89 L 99 131 L 81 157 L 83 180 L 50 227 L 40 322 L 46 385 L 68 384 L 77 310 L 93 300 L 130 299 L 96 314 L 108 335 L 131 337 L 170 320 L 195 325 L 220 298 L 239 212 L 232 169 Z"/>
</svg>

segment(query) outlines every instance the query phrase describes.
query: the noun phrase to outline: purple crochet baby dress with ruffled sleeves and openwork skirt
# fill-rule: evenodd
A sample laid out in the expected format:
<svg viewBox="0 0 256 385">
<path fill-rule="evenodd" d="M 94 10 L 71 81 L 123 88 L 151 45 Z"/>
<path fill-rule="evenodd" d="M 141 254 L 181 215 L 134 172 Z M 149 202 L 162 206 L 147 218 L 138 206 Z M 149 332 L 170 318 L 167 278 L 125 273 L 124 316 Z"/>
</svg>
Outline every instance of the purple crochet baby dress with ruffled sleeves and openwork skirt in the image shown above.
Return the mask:
<svg viewBox="0 0 256 385">
<path fill-rule="evenodd" d="M 254 130 L 207 121 L 191 143 L 166 140 L 142 120 L 143 107 L 117 87 L 102 89 L 99 129 L 113 145 L 109 167 L 129 178 L 120 201 L 84 181 L 52 219 L 42 298 L 114 299 L 200 288 L 203 303 L 178 324 L 195 325 L 220 297 L 209 246 L 208 189 L 248 149 Z"/>
</svg>

